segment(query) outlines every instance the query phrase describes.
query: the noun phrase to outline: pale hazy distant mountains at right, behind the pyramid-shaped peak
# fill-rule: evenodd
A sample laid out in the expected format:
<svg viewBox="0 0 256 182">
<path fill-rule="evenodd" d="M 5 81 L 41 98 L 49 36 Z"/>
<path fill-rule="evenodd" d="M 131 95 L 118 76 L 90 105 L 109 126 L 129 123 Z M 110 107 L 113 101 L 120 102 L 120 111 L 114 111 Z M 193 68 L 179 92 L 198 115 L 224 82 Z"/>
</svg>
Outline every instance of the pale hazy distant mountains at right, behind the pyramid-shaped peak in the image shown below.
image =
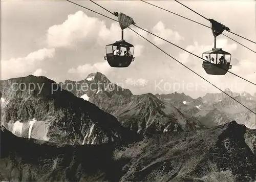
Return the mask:
<svg viewBox="0 0 256 182">
<path fill-rule="evenodd" d="M 251 110 L 256 111 L 256 97 L 243 92 L 232 93 L 231 90 L 225 89 L 225 93 L 232 96 Z M 183 100 L 173 100 L 182 98 Z M 231 99 L 224 93 L 206 94 L 204 97 L 191 100 L 184 93 L 173 93 L 168 95 L 156 95 L 160 100 L 174 104 L 183 113 L 194 116 L 206 127 L 218 126 L 232 120 L 244 124 L 248 128 L 255 129 L 255 114 Z"/>
</svg>

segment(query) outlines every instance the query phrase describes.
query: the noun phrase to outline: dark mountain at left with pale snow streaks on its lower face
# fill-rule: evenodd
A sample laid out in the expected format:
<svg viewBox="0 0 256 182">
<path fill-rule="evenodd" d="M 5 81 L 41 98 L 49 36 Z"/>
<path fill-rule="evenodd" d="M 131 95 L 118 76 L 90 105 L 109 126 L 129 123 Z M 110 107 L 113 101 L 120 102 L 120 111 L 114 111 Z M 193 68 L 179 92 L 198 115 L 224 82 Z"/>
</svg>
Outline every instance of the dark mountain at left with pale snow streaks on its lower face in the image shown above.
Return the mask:
<svg viewBox="0 0 256 182">
<path fill-rule="evenodd" d="M 130 141 L 128 135 L 132 133 L 115 117 L 46 77 L 30 75 L 0 83 L 1 97 L 5 99 L 1 123 L 20 137 L 31 135 L 35 139 L 68 144 Z M 29 90 L 32 84 L 35 88 Z M 130 138 L 133 140 L 133 134 Z"/>
</svg>

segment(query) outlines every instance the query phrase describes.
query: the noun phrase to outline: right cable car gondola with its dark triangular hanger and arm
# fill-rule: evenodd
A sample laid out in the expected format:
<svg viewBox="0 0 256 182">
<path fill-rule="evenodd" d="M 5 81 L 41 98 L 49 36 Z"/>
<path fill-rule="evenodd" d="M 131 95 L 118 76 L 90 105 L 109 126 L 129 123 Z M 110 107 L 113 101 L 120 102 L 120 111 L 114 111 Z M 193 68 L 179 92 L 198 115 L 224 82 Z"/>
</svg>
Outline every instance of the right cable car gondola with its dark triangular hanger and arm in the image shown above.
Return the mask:
<svg viewBox="0 0 256 182">
<path fill-rule="evenodd" d="M 229 28 L 215 21 L 209 19 L 211 22 L 212 34 L 214 35 L 214 48 L 203 53 L 203 68 L 209 75 L 225 75 L 231 69 L 231 54 L 223 51 L 221 48 L 216 48 L 216 37 L 224 30 L 229 31 Z M 205 59 L 206 58 L 206 59 Z"/>
</svg>

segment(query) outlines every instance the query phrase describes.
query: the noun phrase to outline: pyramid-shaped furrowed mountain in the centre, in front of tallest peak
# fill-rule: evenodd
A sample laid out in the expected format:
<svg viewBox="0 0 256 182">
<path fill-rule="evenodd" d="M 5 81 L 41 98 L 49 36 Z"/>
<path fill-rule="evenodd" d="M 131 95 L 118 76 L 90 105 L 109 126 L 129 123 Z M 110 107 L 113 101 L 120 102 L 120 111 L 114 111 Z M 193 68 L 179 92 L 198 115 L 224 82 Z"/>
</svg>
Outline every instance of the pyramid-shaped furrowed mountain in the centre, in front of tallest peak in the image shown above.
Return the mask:
<svg viewBox="0 0 256 182">
<path fill-rule="evenodd" d="M 172 104 L 160 101 L 152 94 L 133 96 L 115 116 L 123 126 L 135 127 L 138 132 L 161 133 L 201 128 L 199 123 L 186 118 Z"/>
</svg>

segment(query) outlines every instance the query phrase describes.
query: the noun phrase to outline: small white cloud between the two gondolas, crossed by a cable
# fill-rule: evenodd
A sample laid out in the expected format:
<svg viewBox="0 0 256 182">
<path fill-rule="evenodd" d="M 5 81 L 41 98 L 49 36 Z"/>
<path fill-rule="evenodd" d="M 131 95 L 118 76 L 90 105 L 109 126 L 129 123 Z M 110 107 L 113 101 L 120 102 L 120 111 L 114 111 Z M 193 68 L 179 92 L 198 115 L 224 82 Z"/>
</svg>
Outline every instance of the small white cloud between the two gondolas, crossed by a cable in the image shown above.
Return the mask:
<svg viewBox="0 0 256 182">
<path fill-rule="evenodd" d="M 162 37 L 170 42 L 177 43 L 181 40 L 184 40 L 184 37 L 182 37 L 178 32 L 173 31 L 172 29 L 165 28 L 165 25 L 162 21 L 159 21 L 152 29 L 152 32 L 159 37 Z M 154 36 L 153 38 L 154 42 L 157 45 L 163 44 L 165 41 Z"/>
</svg>

